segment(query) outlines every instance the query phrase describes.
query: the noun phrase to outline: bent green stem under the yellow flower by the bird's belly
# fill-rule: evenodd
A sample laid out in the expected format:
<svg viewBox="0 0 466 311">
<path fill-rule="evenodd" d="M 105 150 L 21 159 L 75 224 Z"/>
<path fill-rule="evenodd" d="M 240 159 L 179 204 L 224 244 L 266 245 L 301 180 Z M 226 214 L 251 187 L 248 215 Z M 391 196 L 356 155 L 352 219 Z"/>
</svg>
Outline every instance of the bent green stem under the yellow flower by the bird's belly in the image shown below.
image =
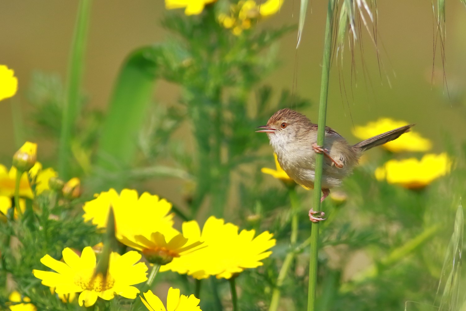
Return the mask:
<svg viewBox="0 0 466 311">
<path fill-rule="evenodd" d="M 285 256 L 285 260 L 283 260 L 280 272 L 278 273 L 277 283 L 274 287 L 274 290 L 272 291 L 272 299 L 270 300 L 270 307 L 268 308 L 269 311 L 276 311 L 278 309 L 278 304 L 280 303 L 281 296 L 281 287 L 283 286 L 283 282 L 285 281 L 285 278 L 288 275 L 288 270 L 290 269 L 291 263 L 293 263 L 293 260 L 295 259 L 296 255 L 295 246 L 298 237 L 298 212 L 300 210 L 300 203 L 296 194 L 295 187 L 288 188 L 288 195 L 290 197 L 292 207 L 290 249 L 288 250 L 288 253 Z"/>
</svg>

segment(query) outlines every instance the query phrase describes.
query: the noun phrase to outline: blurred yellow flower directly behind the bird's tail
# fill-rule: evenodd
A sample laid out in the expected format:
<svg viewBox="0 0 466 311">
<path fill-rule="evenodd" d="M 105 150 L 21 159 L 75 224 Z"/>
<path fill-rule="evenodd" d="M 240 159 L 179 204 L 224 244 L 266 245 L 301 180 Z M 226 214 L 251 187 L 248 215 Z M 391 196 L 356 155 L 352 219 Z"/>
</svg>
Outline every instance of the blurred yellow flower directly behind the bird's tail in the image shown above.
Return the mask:
<svg viewBox="0 0 466 311">
<path fill-rule="evenodd" d="M 380 118 L 375 122 L 369 122 L 365 126 L 356 126 L 353 130 L 353 135 L 360 139 L 367 139 L 407 124 L 408 123 L 404 121 L 395 121 L 390 118 Z M 383 146 L 391 152 L 424 152 L 432 148 L 432 143 L 429 139 L 423 138 L 417 132 L 409 131 L 401 135 L 399 138 L 384 144 Z"/>
</svg>

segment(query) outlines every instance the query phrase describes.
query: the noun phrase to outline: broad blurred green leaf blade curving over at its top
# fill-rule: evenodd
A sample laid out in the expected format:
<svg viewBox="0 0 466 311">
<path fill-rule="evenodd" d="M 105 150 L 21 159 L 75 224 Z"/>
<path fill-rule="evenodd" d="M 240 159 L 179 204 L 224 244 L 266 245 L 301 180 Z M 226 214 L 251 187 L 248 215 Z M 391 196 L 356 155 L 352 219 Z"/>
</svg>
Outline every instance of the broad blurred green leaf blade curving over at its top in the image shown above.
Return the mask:
<svg viewBox="0 0 466 311">
<path fill-rule="evenodd" d="M 107 171 L 130 166 L 138 132 L 146 118 L 155 81 L 160 47 L 144 47 L 124 62 L 110 99 L 97 151 L 97 166 Z"/>
</svg>

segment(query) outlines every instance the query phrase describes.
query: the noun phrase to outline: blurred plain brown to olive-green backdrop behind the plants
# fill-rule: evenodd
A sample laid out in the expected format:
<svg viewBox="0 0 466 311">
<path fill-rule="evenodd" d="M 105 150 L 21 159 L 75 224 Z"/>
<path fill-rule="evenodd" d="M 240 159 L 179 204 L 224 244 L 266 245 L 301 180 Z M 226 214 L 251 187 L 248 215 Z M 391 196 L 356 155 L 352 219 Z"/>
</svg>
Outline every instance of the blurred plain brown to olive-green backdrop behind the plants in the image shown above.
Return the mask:
<svg viewBox="0 0 466 311">
<path fill-rule="evenodd" d="M 299 1 L 286 0 L 279 14 L 261 21 L 258 27 L 297 24 L 299 4 Z M 277 50 L 281 64 L 264 81 L 276 90 L 275 96 L 278 90 L 288 89 L 310 100 L 313 104 L 301 112 L 315 122 L 326 6 L 327 1 L 313 1 L 309 5 L 299 49 L 296 52 L 296 32 L 285 35 Z M 8 165 L 19 147 L 14 145 L 11 105 L 19 105 L 27 119 L 30 107 L 26 90 L 34 71 L 56 73 L 62 81 L 66 80 L 77 1 L 1 0 L 0 8 L 0 63 L 14 69 L 19 79 L 18 94 L 0 105 L 0 161 Z M 168 35 L 160 25 L 164 11 L 163 1 L 92 3 L 82 85 L 88 102 L 86 109 L 97 107 L 105 111 L 124 58 L 133 49 L 163 41 Z M 339 59 L 333 58 L 327 125 L 356 143 L 357 138 L 351 134 L 353 125 L 392 117 L 416 123 L 415 130 L 434 142 L 432 152 L 443 151 L 447 137 L 456 143 L 463 141 L 466 138 L 466 9 L 460 1 L 448 1 L 446 7 L 448 92 L 443 80 L 439 40 L 434 60 L 434 23 L 429 1 L 380 1 L 377 23 L 380 62 L 364 29 L 362 46 L 355 53 L 356 75 L 351 78 L 348 47 L 344 51 L 343 69 L 338 69 Z M 435 69 L 433 80 L 432 68 Z M 161 81 L 154 91 L 154 99 L 169 105 L 178 100 L 178 91 L 178 86 Z M 189 133 L 188 125 L 175 137 L 192 145 L 192 138 L 186 133 Z M 267 138 L 263 136 L 266 143 Z M 39 143 L 42 161 L 55 153 L 47 141 Z M 174 195 L 182 187 L 178 182 L 156 181 L 147 187 L 179 204 L 179 195 Z"/>
</svg>

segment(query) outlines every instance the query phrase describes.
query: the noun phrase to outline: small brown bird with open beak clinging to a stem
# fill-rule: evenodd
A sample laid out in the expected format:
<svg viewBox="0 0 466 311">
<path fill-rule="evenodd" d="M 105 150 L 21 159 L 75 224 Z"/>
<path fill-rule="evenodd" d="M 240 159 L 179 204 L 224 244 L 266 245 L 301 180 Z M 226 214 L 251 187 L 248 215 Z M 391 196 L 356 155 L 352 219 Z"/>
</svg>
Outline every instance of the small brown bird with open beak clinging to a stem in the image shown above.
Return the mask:
<svg viewBox="0 0 466 311">
<path fill-rule="evenodd" d="M 318 146 L 317 124 L 301 113 L 285 108 L 275 112 L 267 125 L 259 126 L 260 130 L 256 132 L 267 133 L 281 168 L 304 187 L 314 189 L 315 153 L 323 152 L 326 158 L 323 162 L 322 202 L 330 194 L 330 188 L 340 186 L 343 178 L 352 173 L 364 151 L 397 139 L 413 125 L 379 134 L 356 145 L 349 145 L 340 134 L 325 127 L 324 146 Z M 321 217 L 315 217 L 315 214 Z M 314 222 L 323 220 L 323 215 L 323 212 L 309 211 L 309 218 Z"/>
</svg>

